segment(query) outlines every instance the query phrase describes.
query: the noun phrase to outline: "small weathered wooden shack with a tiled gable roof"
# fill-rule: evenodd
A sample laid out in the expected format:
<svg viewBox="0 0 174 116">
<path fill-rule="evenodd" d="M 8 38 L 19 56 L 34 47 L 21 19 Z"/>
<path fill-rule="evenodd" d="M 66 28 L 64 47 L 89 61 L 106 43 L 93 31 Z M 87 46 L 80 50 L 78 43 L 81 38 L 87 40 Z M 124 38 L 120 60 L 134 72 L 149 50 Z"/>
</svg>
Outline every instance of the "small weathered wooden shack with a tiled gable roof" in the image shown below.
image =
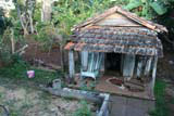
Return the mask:
<svg viewBox="0 0 174 116">
<path fill-rule="evenodd" d="M 101 68 L 115 67 L 125 81 L 150 77 L 153 90 L 158 59 L 163 57 L 158 34 L 166 33 L 165 27 L 114 7 L 74 26 L 72 31 L 65 46 L 71 78 L 75 76 L 74 51 L 77 51 L 82 78 L 96 79 Z"/>
</svg>

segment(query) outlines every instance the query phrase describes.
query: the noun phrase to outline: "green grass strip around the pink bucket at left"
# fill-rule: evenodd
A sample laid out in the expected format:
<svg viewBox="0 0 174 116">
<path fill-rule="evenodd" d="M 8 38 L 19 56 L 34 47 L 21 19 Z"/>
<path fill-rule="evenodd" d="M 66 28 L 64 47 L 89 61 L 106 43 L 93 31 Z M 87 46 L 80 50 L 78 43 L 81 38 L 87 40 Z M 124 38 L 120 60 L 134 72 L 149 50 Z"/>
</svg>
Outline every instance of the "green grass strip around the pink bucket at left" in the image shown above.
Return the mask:
<svg viewBox="0 0 174 116">
<path fill-rule="evenodd" d="M 30 69 L 35 70 L 35 78 L 29 79 L 27 78 L 26 72 Z M 61 77 L 61 73 L 57 72 L 52 73 L 42 69 L 36 69 L 35 67 L 32 67 L 28 63 L 22 60 L 16 60 L 13 64 L 0 68 L 0 78 L 7 77 L 12 79 L 28 80 L 36 82 L 48 82 Z"/>
</svg>

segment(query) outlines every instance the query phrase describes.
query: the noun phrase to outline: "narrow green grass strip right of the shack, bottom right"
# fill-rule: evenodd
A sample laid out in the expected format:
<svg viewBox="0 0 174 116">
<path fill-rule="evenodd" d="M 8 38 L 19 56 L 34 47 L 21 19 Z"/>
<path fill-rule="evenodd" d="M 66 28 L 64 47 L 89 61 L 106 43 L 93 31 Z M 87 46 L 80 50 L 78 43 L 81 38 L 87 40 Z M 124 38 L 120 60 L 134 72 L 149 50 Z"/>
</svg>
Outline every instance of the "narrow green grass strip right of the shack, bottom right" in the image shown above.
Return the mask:
<svg viewBox="0 0 174 116">
<path fill-rule="evenodd" d="M 154 87 L 156 109 L 150 113 L 151 116 L 169 116 L 169 107 L 165 100 L 166 83 L 162 80 L 157 80 Z"/>
</svg>

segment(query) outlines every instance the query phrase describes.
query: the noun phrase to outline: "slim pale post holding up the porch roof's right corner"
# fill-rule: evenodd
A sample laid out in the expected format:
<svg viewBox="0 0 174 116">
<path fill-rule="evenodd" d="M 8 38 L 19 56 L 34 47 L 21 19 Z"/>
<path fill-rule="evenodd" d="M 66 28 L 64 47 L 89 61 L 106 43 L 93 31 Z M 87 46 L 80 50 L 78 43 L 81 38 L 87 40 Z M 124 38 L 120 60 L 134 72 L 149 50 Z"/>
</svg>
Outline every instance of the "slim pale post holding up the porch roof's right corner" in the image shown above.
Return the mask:
<svg viewBox="0 0 174 116">
<path fill-rule="evenodd" d="M 158 56 L 156 56 L 153 60 L 153 70 L 152 70 L 152 80 L 151 80 L 151 92 L 152 93 L 153 93 L 153 88 L 156 83 L 157 63 L 158 63 Z"/>
</svg>

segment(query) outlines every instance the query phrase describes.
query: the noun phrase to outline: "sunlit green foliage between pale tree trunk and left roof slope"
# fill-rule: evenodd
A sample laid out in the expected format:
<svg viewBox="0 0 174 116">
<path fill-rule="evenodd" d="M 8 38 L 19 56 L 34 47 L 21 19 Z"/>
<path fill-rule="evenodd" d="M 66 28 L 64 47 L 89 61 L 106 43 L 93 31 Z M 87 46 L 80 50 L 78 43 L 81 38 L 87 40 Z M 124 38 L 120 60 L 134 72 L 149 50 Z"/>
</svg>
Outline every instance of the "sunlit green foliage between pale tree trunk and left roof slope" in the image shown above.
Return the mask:
<svg viewBox="0 0 174 116">
<path fill-rule="evenodd" d="M 125 0 L 59 0 L 52 9 L 52 23 L 61 35 L 69 38 L 74 25 L 114 4 L 122 4 L 123 1 Z"/>
</svg>

